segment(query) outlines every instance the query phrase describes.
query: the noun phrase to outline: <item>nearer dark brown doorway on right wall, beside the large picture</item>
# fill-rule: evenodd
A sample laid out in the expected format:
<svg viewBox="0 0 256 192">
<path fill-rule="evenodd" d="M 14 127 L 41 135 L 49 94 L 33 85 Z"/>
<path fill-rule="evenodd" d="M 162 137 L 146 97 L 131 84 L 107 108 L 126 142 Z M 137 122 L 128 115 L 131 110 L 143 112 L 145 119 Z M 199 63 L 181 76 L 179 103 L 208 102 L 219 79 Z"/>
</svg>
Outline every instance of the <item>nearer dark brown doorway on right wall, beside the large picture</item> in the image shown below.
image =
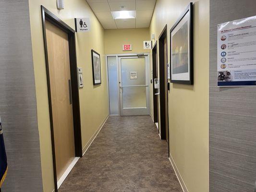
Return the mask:
<svg viewBox="0 0 256 192">
<path fill-rule="evenodd" d="M 167 25 L 165 25 L 159 36 L 160 135 L 162 140 L 169 143 L 167 57 Z"/>
</svg>

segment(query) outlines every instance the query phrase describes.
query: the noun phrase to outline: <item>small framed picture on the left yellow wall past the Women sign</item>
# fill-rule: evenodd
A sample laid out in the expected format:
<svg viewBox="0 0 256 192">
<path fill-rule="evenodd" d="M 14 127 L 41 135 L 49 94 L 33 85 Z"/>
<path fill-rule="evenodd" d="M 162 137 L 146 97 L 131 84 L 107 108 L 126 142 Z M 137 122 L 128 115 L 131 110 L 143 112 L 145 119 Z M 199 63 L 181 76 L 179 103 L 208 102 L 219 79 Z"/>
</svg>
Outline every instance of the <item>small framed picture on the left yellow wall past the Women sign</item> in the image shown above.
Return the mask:
<svg viewBox="0 0 256 192">
<path fill-rule="evenodd" d="M 100 55 L 92 49 L 93 84 L 101 84 Z"/>
</svg>

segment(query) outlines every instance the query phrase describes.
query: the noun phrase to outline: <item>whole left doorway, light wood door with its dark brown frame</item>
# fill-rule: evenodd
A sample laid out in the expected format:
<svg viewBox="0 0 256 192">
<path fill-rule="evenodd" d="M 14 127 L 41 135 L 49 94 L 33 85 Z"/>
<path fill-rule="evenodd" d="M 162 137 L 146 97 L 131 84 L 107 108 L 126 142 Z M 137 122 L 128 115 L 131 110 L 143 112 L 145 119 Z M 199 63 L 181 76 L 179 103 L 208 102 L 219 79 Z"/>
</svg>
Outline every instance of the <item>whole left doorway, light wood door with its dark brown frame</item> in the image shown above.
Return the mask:
<svg viewBox="0 0 256 192">
<path fill-rule="evenodd" d="M 79 157 L 82 139 L 74 30 L 41 6 L 55 192 Z"/>
</svg>

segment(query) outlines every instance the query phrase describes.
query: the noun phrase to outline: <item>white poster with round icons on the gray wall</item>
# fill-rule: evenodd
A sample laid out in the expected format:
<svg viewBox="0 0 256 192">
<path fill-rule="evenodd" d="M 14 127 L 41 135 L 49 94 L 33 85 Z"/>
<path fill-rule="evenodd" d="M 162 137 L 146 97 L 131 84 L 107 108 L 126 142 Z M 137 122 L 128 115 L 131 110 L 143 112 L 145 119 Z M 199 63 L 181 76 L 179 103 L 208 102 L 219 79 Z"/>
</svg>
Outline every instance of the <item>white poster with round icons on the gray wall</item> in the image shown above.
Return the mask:
<svg viewBox="0 0 256 192">
<path fill-rule="evenodd" d="M 256 86 L 256 16 L 218 24 L 218 86 Z"/>
</svg>

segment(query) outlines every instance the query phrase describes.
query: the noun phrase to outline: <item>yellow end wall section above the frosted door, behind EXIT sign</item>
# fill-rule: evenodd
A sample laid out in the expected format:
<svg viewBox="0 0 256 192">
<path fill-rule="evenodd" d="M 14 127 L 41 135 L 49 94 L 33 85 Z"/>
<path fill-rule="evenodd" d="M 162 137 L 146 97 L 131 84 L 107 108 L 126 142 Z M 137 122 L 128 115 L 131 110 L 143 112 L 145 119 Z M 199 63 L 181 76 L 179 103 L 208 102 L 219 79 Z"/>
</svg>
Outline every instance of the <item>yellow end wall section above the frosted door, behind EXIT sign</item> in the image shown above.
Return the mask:
<svg viewBox="0 0 256 192">
<path fill-rule="evenodd" d="M 147 53 L 150 49 L 143 48 L 143 41 L 147 40 L 150 40 L 148 28 L 108 29 L 105 30 L 105 53 Z M 122 51 L 123 44 L 132 44 L 132 51 Z"/>
</svg>

